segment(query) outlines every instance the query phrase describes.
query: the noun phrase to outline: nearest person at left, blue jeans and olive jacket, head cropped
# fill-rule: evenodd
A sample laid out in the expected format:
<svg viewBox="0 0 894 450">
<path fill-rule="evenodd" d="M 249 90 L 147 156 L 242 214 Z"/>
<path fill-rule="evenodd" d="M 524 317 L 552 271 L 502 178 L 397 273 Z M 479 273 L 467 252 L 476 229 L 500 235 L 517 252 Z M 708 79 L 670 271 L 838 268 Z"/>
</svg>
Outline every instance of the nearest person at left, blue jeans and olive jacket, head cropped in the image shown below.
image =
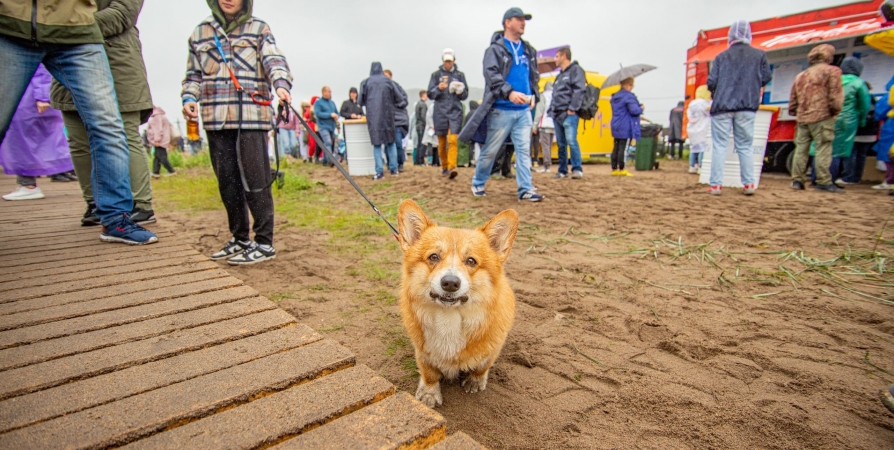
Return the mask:
<svg viewBox="0 0 894 450">
<path fill-rule="evenodd" d="M 0 142 L 40 64 L 72 92 L 90 141 L 93 197 L 103 242 L 143 245 L 158 236 L 131 218 L 130 150 L 118 97 L 94 18 L 96 2 L 0 2 Z"/>
</svg>

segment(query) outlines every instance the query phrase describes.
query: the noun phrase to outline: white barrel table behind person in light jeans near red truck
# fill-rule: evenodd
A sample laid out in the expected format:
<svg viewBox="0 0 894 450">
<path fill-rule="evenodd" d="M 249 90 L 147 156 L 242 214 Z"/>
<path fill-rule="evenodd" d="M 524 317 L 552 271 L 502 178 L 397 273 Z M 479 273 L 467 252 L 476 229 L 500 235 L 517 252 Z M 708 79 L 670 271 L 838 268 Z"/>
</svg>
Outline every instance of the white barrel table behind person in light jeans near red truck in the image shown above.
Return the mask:
<svg viewBox="0 0 894 450">
<path fill-rule="evenodd" d="M 760 186 L 761 171 L 764 168 L 764 155 L 767 152 L 767 140 L 770 138 L 770 123 L 775 111 L 770 109 L 760 109 L 754 118 L 754 141 L 752 143 L 752 151 L 754 152 L 754 184 Z M 701 184 L 709 184 L 711 182 L 711 160 L 713 159 L 713 145 L 711 143 L 711 127 L 708 127 L 708 145 L 705 148 L 705 156 L 702 158 L 702 171 L 698 177 Z M 741 188 L 742 176 L 739 167 L 739 155 L 735 151 L 735 138 L 730 130 L 729 147 L 726 149 L 726 164 L 723 166 L 723 186 L 730 188 Z"/>
</svg>

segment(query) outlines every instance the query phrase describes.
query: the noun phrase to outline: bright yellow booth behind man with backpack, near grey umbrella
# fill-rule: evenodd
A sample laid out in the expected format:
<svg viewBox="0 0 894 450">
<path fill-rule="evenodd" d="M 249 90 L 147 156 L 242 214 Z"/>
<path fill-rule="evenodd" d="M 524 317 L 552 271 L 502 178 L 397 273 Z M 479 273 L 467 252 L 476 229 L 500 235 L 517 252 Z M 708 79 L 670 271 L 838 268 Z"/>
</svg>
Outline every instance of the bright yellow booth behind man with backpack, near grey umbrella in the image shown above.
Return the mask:
<svg viewBox="0 0 894 450">
<path fill-rule="evenodd" d="M 587 83 L 596 87 L 602 86 L 602 83 L 606 78 L 608 78 L 608 75 L 603 75 L 598 72 L 587 72 Z M 541 92 L 543 92 L 543 87 L 546 86 L 546 83 L 550 81 L 555 82 L 556 76 L 547 75 L 540 78 Z M 583 158 L 584 161 L 596 156 L 610 156 L 612 153 L 615 141 L 614 138 L 612 138 L 611 128 L 611 98 L 612 95 L 619 90 L 621 90 L 621 86 L 612 86 L 600 92 L 599 111 L 596 112 L 596 117 L 594 117 L 593 120 L 581 122 L 577 133 L 577 140 L 578 143 L 580 143 L 581 158 Z M 559 150 L 558 147 L 556 147 L 555 142 L 553 142 L 553 148 L 550 154 L 554 160 L 559 159 Z M 569 157 L 570 156 L 571 155 L 569 154 Z"/>
</svg>

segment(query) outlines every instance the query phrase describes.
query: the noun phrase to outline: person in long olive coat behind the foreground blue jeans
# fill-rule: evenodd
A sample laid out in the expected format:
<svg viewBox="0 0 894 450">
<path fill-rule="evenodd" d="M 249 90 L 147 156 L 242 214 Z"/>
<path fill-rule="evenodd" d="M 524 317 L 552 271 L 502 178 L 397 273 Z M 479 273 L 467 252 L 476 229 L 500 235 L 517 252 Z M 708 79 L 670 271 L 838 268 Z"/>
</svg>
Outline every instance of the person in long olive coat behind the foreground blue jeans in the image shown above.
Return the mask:
<svg viewBox="0 0 894 450">
<path fill-rule="evenodd" d="M 118 108 L 127 132 L 127 146 L 130 149 L 130 189 L 133 192 L 134 210 L 131 220 L 136 223 L 155 222 L 152 210 L 152 185 L 149 182 L 149 157 L 140 138 L 139 126 L 149 120 L 152 114 L 152 96 L 146 80 L 146 65 L 137 30 L 137 16 L 143 8 L 143 0 L 97 0 L 94 14 L 97 25 L 105 39 L 106 54 L 118 93 Z M 90 142 L 87 130 L 78 115 L 77 108 L 68 92 L 58 81 L 53 82 L 51 99 L 53 108 L 62 111 L 65 128 L 68 129 L 68 145 L 71 160 L 81 192 L 87 202 L 87 212 L 81 219 L 82 225 L 99 225 L 96 206 L 93 203 L 93 187 L 90 184 Z"/>
</svg>

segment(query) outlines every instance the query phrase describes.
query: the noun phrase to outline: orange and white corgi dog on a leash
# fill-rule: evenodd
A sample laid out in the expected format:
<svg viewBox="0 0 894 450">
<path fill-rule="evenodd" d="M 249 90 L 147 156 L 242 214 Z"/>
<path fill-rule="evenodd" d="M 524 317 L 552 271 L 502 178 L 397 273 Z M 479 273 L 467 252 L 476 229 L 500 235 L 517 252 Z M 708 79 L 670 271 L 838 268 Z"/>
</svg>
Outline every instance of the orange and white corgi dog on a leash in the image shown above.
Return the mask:
<svg viewBox="0 0 894 450">
<path fill-rule="evenodd" d="M 475 230 L 435 225 L 412 200 L 398 210 L 404 253 L 400 311 L 416 351 L 416 398 L 443 404 L 441 380 L 466 375 L 473 394 L 487 388 L 512 322 L 515 294 L 503 273 L 518 232 L 518 214 L 497 214 Z"/>
</svg>

